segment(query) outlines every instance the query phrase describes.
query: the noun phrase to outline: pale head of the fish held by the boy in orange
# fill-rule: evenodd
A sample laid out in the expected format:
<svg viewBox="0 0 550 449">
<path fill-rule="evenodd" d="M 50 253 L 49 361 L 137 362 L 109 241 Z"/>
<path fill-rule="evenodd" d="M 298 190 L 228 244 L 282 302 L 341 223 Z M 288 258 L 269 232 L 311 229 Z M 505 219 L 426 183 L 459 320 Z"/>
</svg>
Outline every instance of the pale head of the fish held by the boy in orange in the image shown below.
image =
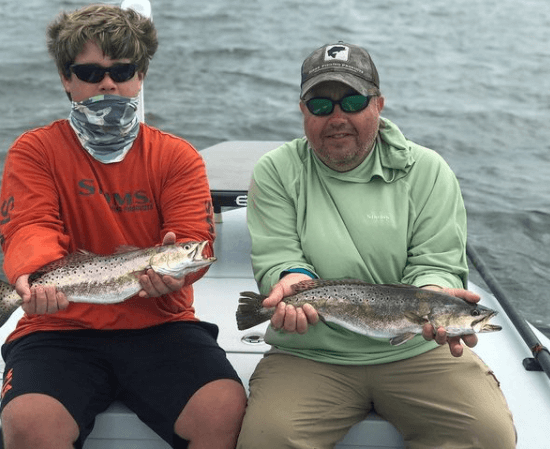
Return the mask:
<svg viewBox="0 0 550 449">
<path fill-rule="evenodd" d="M 216 261 L 215 257 L 203 256 L 202 252 L 207 244 L 204 241 L 159 246 L 158 252 L 150 259 L 150 266 L 157 274 L 181 279 Z"/>
</svg>

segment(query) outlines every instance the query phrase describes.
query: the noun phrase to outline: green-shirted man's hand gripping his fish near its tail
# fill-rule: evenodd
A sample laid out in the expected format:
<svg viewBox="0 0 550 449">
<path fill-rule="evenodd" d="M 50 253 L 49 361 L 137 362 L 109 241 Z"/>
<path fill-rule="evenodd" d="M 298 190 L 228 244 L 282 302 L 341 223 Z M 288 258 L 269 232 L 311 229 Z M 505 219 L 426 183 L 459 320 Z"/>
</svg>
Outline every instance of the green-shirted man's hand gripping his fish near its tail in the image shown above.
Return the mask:
<svg viewBox="0 0 550 449">
<path fill-rule="evenodd" d="M 317 311 L 309 304 L 294 307 L 282 301 L 283 298 L 294 293 L 293 284 L 306 280 L 311 278 L 302 273 L 289 273 L 273 286 L 269 296 L 264 299 L 265 308 L 276 307 L 271 317 L 273 328 L 305 334 L 310 324 L 316 324 L 319 321 Z"/>
</svg>

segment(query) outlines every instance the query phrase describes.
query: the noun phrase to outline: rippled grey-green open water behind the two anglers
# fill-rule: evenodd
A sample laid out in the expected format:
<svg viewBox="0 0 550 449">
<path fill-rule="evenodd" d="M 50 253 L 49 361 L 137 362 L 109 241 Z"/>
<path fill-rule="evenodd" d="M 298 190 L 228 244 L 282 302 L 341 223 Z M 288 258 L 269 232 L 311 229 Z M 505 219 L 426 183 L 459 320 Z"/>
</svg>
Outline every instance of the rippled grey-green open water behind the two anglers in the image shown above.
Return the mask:
<svg viewBox="0 0 550 449">
<path fill-rule="evenodd" d="M 0 0 L 2 162 L 19 134 L 68 115 L 45 28 L 60 10 L 87 3 Z M 301 136 L 303 59 L 338 40 L 366 47 L 383 115 L 448 161 L 470 242 L 521 313 L 549 333 L 548 0 L 151 3 L 160 48 L 145 85 L 146 120 L 199 150 Z"/>
</svg>

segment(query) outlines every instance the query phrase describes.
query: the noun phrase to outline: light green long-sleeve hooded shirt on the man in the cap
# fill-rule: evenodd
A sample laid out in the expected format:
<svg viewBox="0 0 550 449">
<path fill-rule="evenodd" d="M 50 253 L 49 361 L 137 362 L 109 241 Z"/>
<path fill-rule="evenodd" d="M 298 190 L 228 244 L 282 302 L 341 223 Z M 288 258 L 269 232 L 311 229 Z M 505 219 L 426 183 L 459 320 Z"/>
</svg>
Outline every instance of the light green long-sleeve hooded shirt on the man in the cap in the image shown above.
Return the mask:
<svg viewBox="0 0 550 449">
<path fill-rule="evenodd" d="M 373 151 L 349 172 L 325 166 L 305 138 L 257 163 L 247 216 L 262 293 L 292 268 L 323 279 L 466 285 L 466 211 L 454 173 L 437 153 L 382 120 Z M 393 347 L 323 323 L 305 335 L 270 328 L 266 342 L 274 350 L 337 364 L 388 363 L 436 346 L 417 336 Z"/>
</svg>

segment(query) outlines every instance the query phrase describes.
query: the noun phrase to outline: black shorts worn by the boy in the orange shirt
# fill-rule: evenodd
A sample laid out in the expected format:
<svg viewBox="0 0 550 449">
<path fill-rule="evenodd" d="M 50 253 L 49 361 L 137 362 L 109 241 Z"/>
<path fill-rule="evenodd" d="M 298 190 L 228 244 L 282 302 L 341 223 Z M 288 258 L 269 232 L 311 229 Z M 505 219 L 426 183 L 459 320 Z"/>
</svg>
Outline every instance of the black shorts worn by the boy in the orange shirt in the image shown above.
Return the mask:
<svg viewBox="0 0 550 449">
<path fill-rule="evenodd" d="M 177 322 L 138 330 L 37 332 L 2 346 L 2 408 L 42 393 L 61 402 L 80 428 L 82 447 L 94 419 L 115 399 L 172 447 L 186 447 L 174 424 L 209 382 L 241 382 L 216 343 L 218 327 Z"/>
</svg>

